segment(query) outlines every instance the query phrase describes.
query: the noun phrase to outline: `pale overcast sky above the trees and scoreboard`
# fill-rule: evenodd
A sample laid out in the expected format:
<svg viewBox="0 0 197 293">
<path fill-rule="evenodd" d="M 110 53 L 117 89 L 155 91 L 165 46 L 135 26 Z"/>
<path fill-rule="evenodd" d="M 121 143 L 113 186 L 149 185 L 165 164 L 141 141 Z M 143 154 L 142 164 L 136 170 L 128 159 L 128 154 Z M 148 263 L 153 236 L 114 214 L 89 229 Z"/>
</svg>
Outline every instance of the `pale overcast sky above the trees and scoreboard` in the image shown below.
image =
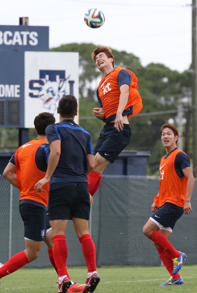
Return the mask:
<svg viewBox="0 0 197 293">
<path fill-rule="evenodd" d="M 94 43 L 124 50 L 141 64 L 162 63 L 187 70 L 192 61 L 192 0 L 9 0 L 1 5 L 0 25 L 49 26 L 49 47 Z M 105 23 L 88 27 L 84 14 L 99 8 Z M 113 53 L 113 52 L 112 52 Z M 91 57 L 90 57 L 91 60 Z"/>
</svg>

